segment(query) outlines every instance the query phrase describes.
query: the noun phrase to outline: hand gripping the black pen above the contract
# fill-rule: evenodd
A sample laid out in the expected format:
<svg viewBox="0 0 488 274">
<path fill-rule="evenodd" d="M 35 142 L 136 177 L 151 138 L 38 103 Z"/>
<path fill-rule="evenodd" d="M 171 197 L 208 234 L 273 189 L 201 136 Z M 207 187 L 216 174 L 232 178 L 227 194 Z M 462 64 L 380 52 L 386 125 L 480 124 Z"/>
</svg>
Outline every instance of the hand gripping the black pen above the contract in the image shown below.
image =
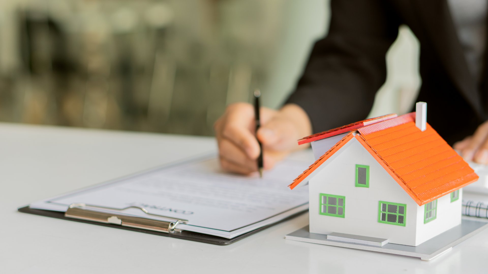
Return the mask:
<svg viewBox="0 0 488 274">
<path fill-rule="evenodd" d="M 257 138 L 263 145 L 264 169 L 271 169 L 288 153 L 298 149 L 297 140 L 310 135 L 311 124 L 305 111 L 295 104 L 281 110 L 261 108 L 261 127 Z M 248 103 L 231 104 L 214 125 L 224 170 L 250 174 L 258 170 L 260 154 L 255 134 L 254 107 Z"/>
</svg>

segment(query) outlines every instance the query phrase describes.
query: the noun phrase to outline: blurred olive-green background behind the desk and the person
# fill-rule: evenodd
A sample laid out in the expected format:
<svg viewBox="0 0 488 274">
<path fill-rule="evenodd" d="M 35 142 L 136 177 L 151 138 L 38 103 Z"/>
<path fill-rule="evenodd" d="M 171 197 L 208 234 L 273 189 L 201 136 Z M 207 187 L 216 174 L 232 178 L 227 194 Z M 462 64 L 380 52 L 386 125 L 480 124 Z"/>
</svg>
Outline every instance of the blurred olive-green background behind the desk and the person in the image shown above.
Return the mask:
<svg viewBox="0 0 488 274">
<path fill-rule="evenodd" d="M 213 135 L 260 88 L 277 108 L 328 0 L 1 0 L 0 121 Z M 406 27 L 370 114 L 406 113 L 420 78 Z"/>
</svg>

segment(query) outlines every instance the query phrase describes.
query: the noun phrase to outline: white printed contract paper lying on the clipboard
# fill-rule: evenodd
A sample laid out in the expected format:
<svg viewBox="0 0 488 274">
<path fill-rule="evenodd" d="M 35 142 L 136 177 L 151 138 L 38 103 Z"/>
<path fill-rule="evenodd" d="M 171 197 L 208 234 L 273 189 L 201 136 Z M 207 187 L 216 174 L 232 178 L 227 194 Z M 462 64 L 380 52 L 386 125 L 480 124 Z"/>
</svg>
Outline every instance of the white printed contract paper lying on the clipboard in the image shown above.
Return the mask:
<svg viewBox="0 0 488 274">
<path fill-rule="evenodd" d="M 309 162 L 287 159 L 259 178 L 224 173 L 216 157 L 204 157 L 115 179 L 30 207 L 65 212 L 72 203 L 118 209 L 135 205 L 151 214 L 187 219 L 187 224 L 178 224 L 178 229 L 232 238 L 306 210 L 308 187 L 292 191 L 287 185 Z M 164 220 L 138 209 L 123 214 Z"/>
</svg>

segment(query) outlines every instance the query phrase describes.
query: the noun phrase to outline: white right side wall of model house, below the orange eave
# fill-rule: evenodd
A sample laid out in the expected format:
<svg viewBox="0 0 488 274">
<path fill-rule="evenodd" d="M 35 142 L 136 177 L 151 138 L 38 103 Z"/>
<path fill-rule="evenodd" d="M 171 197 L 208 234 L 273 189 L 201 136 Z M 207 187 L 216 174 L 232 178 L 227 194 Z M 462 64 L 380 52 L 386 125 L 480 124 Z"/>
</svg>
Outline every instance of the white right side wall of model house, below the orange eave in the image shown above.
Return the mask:
<svg viewBox="0 0 488 274">
<path fill-rule="evenodd" d="M 450 194 L 437 199 L 437 218 L 424 224 L 425 206 L 419 207 L 417 215 L 417 245 L 461 224 L 463 190 L 459 190 L 459 199 L 451 202 Z"/>
</svg>

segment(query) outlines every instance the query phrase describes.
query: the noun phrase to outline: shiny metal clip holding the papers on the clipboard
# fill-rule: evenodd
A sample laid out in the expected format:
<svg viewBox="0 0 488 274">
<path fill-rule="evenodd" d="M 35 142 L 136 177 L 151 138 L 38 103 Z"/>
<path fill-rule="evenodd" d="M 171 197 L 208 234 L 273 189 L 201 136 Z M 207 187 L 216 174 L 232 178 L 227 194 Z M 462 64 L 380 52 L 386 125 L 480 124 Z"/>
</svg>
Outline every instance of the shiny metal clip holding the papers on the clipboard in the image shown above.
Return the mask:
<svg viewBox="0 0 488 274">
<path fill-rule="evenodd" d="M 114 213 L 97 211 L 97 209 L 123 211 L 129 208 L 137 208 L 147 215 L 155 215 L 169 220 L 168 221 L 154 220 L 154 219 L 148 219 L 144 217 L 128 216 L 123 214 L 114 214 Z M 119 208 L 89 205 L 84 203 L 70 204 L 64 216 L 68 218 L 75 218 L 75 219 L 101 222 L 107 224 L 115 224 L 115 225 L 121 225 L 121 226 L 132 227 L 132 228 L 140 228 L 140 229 L 146 229 L 146 230 L 152 230 L 152 231 L 158 231 L 164 233 L 181 232 L 181 230 L 176 229 L 176 226 L 180 223 L 185 224 L 188 222 L 188 220 L 186 219 L 178 219 L 170 216 L 152 214 L 147 212 L 145 208 L 139 206 L 128 206 L 119 209 Z"/>
</svg>

